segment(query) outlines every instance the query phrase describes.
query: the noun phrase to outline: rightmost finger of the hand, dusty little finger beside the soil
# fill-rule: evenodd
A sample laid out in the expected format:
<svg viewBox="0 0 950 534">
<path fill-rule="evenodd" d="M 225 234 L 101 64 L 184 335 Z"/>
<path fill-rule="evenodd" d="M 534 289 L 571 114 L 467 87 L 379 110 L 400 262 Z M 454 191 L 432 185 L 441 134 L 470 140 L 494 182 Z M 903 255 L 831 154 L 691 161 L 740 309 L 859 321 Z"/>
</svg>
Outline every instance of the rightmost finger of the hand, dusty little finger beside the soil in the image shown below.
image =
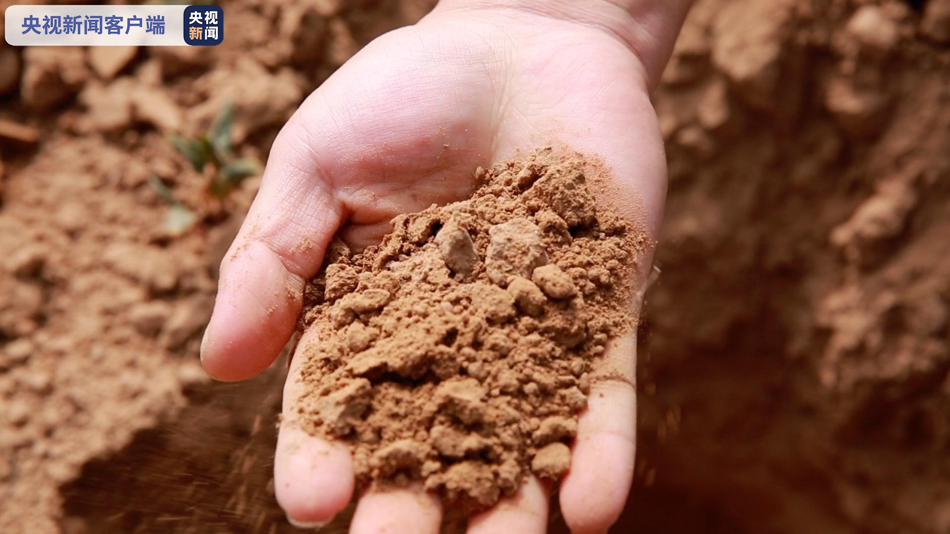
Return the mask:
<svg viewBox="0 0 950 534">
<path fill-rule="evenodd" d="M 561 483 L 561 512 L 574 534 L 605 531 L 627 502 L 637 448 L 636 360 L 629 334 L 611 344 L 591 372 L 587 410 Z"/>
</svg>

